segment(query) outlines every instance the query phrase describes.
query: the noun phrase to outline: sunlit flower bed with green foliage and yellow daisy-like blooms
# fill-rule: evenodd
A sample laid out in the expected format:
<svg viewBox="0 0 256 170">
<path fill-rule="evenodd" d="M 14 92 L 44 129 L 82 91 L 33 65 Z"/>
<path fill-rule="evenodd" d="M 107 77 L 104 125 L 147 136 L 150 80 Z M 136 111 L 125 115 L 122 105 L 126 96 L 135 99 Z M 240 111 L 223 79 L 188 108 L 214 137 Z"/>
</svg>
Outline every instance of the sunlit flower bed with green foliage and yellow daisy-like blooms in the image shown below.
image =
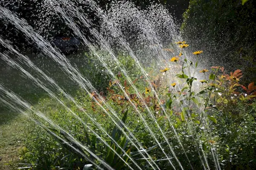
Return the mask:
<svg viewBox="0 0 256 170">
<path fill-rule="evenodd" d="M 185 43 L 178 42 L 178 46 L 185 52 Z M 30 109 L 31 118 L 37 121 L 27 129 L 21 160 L 33 169 L 81 169 L 91 163 L 95 169 L 96 165 L 104 167 L 100 159 L 115 169 L 129 169 L 128 165 L 136 169 L 133 161 L 142 169 L 150 169 L 133 144 L 135 140 L 129 140 L 133 134 L 160 169 L 172 168 L 162 149 L 172 157 L 174 167 L 179 164 L 173 153 L 184 169 L 201 170 L 204 166 L 215 169 L 218 164 L 230 170 L 253 169 L 256 86 L 239 84 L 241 70 L 226 73 L 220 66 L 198 70 L 202 51 L 194 52 L 191 61 L 182 53 L 168 61 L 176 68 L 175 73 L 169 68 L 149 67 L 146 68 L 149 79 L 136 69 L 129 56 L 121 55 L 119 61 L 130 61 L 125 62 L 125 68 L 132 83 L 118 71 L 109 82 L 102 77 L 107 92 L 87 93 L 81 89 L 76 103 L 65 101 L 70 110 L 63 106 L 52 110 L 41 101 L 41 113 L 53 123 L 43 119 L 33 107 Z M 113 64 L 108 55 L 106 61 Z M 100 72 L 104 69 L 97 68 Z M 195 78 L 195 72 L 204 79 Z"/>
</svg>

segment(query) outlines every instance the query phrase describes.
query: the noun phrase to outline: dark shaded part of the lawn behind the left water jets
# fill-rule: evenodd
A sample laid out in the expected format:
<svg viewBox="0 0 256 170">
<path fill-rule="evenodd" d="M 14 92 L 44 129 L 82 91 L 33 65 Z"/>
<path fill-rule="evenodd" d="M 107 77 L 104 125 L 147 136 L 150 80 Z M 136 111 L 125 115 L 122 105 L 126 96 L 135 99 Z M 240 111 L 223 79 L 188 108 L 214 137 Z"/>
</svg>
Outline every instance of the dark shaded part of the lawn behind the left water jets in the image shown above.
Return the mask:
<svg viewBox="0 0 256 170">
<path fill-rule="evenodd" d="M 78 84 L 72 81 L 68 76 L 61 70 L 58 63 L 52 61 L 52 59 L 42 55 L 31 55 L 27 54 L 30 60 L 45 74 L 52 78 L 65 92 L 74 96 L 79 89 Z M 15 57 L 12 57 L 15 58 Z M 73 66 L 76 66 L 79 70 L 86 68 L 86 56 L 83 52 L 76 55 L 68 55 L 67 58 Z M 17 59 L 14 59 L 17 61 Z M 58 95 L 56 89 L 50 88 L 49 81 L 44 80 L 38 73 L 26 66 L 24 63 L 17 61 L 23 69 L 33 75 L 35 78 L 42 81 L 47 88 L 52 90 L 55 95 Z M 49 98 L 47 92 L 41 87 L 37 86 L 34 81 L 30 80 L 26 76 L 22 75 L 20 70 L 14 69 L 8 66 L 5 61 L 0 60 L 0 83 L 3 84 L 7 89 L 12 90 L 15 94 L 19 95 L 22 99 L 27 101 L 32 106 L 38 104 L 41 98 Z M 16 118 L 20 113 L 16 113 L 9 110 L 0 102 L 0 126 L 6 124 L 12 119 Z"/>
</svg>

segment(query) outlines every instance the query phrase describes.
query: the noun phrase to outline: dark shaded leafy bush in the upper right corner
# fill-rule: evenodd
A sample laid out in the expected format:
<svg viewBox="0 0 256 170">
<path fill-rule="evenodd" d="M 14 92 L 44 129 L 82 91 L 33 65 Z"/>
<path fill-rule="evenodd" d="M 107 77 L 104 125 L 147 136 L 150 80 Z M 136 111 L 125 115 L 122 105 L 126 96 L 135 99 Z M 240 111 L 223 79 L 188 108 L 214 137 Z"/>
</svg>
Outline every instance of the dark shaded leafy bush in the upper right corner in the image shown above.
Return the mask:
<svg viewBox="0 0 256 170">
<path fill-rule="evenodd" d="M 255 5 L 254 0 L 244 5 L 241 0 L 190 0 L 183 14 L 183 39 L 189 40 L 193 49 L 205 49 L 205 63 L 242 69 L 247 79 L 255 82 Z"/>
</svg>

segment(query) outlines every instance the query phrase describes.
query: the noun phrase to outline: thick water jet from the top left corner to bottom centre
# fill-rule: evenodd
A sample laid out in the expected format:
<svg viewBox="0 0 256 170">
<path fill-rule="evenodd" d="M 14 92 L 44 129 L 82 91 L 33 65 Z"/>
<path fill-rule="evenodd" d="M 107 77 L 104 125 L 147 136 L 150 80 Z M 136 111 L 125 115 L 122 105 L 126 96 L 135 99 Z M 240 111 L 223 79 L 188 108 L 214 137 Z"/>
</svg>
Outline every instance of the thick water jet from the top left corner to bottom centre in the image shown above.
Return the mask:
<svg viewBox="0 0 256 170">
<path fill-rule="evenodd" d="M 73 69 L 73 71 L 76 72 L 80 77 L 77 77 L 75 74 L 73 74 L 73 72 L 71 72 L 71 71 L 69 70 L 69 68 L 67 68 L 67 66 L 65 65 L 65 63 L 64 63 L 63 61 L 65 61 L 67 64 L 69 64 L 69 62 L 68 62 L 67 60 L 65 60 L 64 56 L 62 56 L 62 55 L 60 55 L 58 52 L 56 52 L 56 51 L 52 48 L 52 46 L 50 46 L 49 44 L 45 43 L 44 40 L 43 40 L 41 37 L 39 37 L 37 34 L 35 34 L 35 32 L 33 32 L 32 28 L 31 28 L 30 26 L 27 26 L 27 25 L 26 25 L 26 22 L 25 22 L 25 21 L 19 20 L 20 22 L 17 22 L 17 18 L 16 18 L 16 20 L 15 20 L 15 17 L 13 17 L 13 15 L 10 14 L 8 10 L 3 9 L 3 8 L 0 8 L 0 12 L 1 12 L 1 10 L 4 11 L 4 12 L 6 12 L 6 14 L 9 14 L 9 16 L 12 17 L 12 18 L 9 18 L 9 19 L 14 22 L 14 25 L 15 25 L 15 26 L 18 26 L 18 28 L 20 28 L 23 32 L 27 33 L 27 35 L 30 35 L 29 33 L 32 33 L 33 35 L 32 35 L 32 36 L 30 35 L 31 38 L 34 38 L 34 39 L 35 39 L 35 37 L 36 37 L 36 38 L 39 38 L 39 39 L 35 39 L 35 41 L 36 41 L 38 44 L 40 44 L 41 46 L 43 46 L 43 51 L 44 51 L 46 54 L 49 54 L 50 57 L 52 57 L 55 61 L 57 61 L 58 63 L 60 63 L 62 66 L 64 66 L 64 68 L 65 68 L 64 71 L 66 71 L 67 73 L 71 74 L 71 75 L 73 76 L 73 77 L 72 77 L 73 80 L 74 80 L 74 81 L 77 81 L 77 82 L 87 91 L 87 93 L 88 93 L 89 95 L 91 95 L 90 92 L 86 89 L 85 85 L 84 85 L 81 81 L 78 81 L 78 80 L 82 79 L 83 81 L 87 82 L 87 85 L 90 86 L 91 88 L 93 88 L 93 86 L 91 86 L 91 84 L 90 84 L 88 81 L 86 81 L 84 78 L 82 78 L 82 76 L 81 76 L 75 69 Z M 4 13 L 2 13 L 2 14 L 4 14 Z M 20 23 L 23 23 L 24 28 L 20 26 Z M 16 25 L 16 24 L 17 24 L 17 25 Z M 28 29 L 29 32 L 27 32 L 26 29 Z M 42 43 L 42 42 L 43 42 L 43 43 Z M 58 55 L 54 55 L 52 52 L 45 51 L 44 48 L 46 47 L 46 45 L 47 45 L 47 47 L 48 47 L 47 49 L 51 49 L 51 51 L 57 53 Z M 61 61 L 58 57 L 61 57 L 61 59 L 63 59 L 63 60 Z M 70 64 L 69 64 L 69 65 L 70 65 Z M 70 68 L 73 68 L 73 67 L 70 65 Z M 94 90 L 94 91 L 95 91 L 95 90 Z M 91 97 L 99 104 L 99 102 L 98 102 L 93 96 L 91 96 Z M 107 114 L 109 115 L 109 113 L 102 107 L 101 104 L 99 104 L 99 106 L 104 110 L 105 113 L 107 113 Z M 113 114 L 118 118 L 118 116 L 117 116 L 115 113 L 113 113 Z M 110 117 L 111 117 L 111 115 L 110 115 Z M 122 130 L 122 127 L 120 127 L 120 125 L 119 125 L 118 123 L 116 123 L 116 121 L 114 121 L 112 117 L 111 117 L 111 119 L 112 119 L 112 121 L 116 124 L 116 126 L 126 135 L 126 137 L 131 141 L 131 143 L 132 143 L 138 150 L 140 150 L 140 149 L 135 145 L 135 143 L 129 138 L 129 136 L 125 133 L 125 131 Z M 122 124 L 122 121 L 120 120 L 120 118 L 118 118 L 118 119 L 119 119 L 119 122 L 121 122 L 121 124 Z M 123 127 L 125 127 L 125 129 L 128 130 L 127 127 L 126 127 L 124 124 L 123 124 Z M 128 130 L 128 132 L 129 132 L 130 135 L 135 139 L 135 141 L 137 142 L 137 144 L 139 144 L 139 146 L 140 146 L 141 148 L 143 148 L 143 146 L 140 144 L 139 141 L 137 141 L 137 139 L 135 138 L 135 136 L 134 136 L 129 130 Z M 145 152 L 145 153 L 146 153 L 146 152 Z M 140 154 L 145 158 L 145 156 L 143 155 L 143 153 L 140 153 Z M 146 153 L 146 154 L 147 154 L 147 156 L 148 156 L 149 158 L 151 158 L 151 156 L 149 156 L 148 153 Z M 147 161 L 148 161 L 148 160 L 147 160 Z M 151 163 L 150 163 L 149 161 L 148 161 L 148 163 L 151 165 Z M 151 165 L 151 166 L 152 166 L 152 165 Z M 156 165 L 156 166 L 157 166 L 157 165 Z M 153 169 L 154 169 L 154 167 L 153 167 Z M 159 169 L 159 168 L 158 168 L 158 169 Z"/>
</svg>

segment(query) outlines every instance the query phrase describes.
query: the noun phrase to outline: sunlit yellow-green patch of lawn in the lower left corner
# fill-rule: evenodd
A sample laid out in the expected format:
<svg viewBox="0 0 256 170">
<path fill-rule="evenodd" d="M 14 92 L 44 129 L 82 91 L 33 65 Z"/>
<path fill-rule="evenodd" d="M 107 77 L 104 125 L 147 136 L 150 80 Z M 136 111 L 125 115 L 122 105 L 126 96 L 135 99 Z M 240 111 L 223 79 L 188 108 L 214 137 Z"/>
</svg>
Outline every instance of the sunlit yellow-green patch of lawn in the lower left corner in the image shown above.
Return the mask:
<svg viewBox="0 0 256 170">
<path fill-rule="evenodd" d="M 52 112 L 57 111 L 57 101 L 49 97 L 41 98 L 39 101 L 51 107 Z M 42 108 L 41 104 L 35 104 L 34 107 Z M 6 108 L 0 108 L 0 118 L 0 170 L 11 170 L 19 167 L 19 150 L 24 147 L 25 131 L 31 122 L 24 115 Z"/>
</svg>

